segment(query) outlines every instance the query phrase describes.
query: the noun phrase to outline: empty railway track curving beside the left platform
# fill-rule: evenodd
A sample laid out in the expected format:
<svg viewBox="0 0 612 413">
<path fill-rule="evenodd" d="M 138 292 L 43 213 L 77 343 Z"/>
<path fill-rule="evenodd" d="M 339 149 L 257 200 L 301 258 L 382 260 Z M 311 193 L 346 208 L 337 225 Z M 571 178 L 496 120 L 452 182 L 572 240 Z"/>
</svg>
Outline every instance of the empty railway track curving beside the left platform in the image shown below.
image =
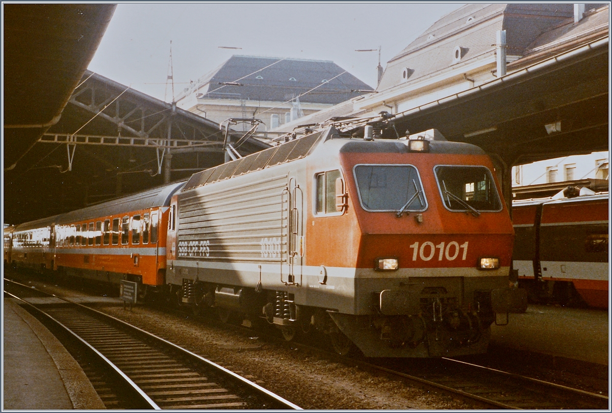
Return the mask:
<svg viewBox="0 0 612 413">
<path fill-rule="evenodd" d="M 300 409 L 236 373 L 99 311 L 6 279 L 4 293 L 80 343 L 75 358 L 89 360 L 84 371 L 108 408 Z"/>
</svg>

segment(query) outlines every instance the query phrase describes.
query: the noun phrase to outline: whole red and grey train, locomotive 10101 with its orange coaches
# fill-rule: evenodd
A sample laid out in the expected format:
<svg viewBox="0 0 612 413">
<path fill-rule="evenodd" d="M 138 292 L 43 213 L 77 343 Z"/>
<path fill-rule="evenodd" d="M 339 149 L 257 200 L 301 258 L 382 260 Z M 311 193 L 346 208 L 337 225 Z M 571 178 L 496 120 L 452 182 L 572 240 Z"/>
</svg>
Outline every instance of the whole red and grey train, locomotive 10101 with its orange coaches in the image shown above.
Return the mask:
<svg viewBox="0 0 612 413">
<path fill-rule="evenodd" d="M 5 261 L 137 281 L 287 339 L 326 333 L 341 354 L 482 353 L 515 292 L 492 172 L 481 149 L 438 133 L 328 127 L 186 183 L 5 229 Z"/>
</svg>

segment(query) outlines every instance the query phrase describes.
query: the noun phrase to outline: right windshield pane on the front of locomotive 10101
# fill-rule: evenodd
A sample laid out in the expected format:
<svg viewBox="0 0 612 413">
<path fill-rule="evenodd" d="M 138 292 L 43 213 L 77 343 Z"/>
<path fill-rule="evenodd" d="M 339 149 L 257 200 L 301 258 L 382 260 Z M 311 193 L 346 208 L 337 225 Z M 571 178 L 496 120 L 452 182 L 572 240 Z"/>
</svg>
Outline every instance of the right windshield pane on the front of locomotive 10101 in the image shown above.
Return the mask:
<svg viewBox="0 0 612 413">
<path fill-rule="evenodd" d="M 439 165 L 434 170 L 446 209 L 474 215 L 502 209 L 495 181 L 485 166 Z"/>
</svg>

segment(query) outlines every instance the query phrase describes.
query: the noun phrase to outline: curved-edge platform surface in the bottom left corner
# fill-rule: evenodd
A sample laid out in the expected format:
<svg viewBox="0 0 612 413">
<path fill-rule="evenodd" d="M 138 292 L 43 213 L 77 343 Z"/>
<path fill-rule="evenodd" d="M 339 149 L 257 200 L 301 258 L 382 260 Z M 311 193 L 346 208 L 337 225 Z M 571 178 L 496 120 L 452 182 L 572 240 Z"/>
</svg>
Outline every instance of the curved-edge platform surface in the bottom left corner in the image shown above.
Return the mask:
<svg viewBox="0 0 612 413">
<path fill-rule="evenodd" d="M 2 410 L 105 409 L 72 355 L 12 298 L 4 299 Z"/>
</svg>

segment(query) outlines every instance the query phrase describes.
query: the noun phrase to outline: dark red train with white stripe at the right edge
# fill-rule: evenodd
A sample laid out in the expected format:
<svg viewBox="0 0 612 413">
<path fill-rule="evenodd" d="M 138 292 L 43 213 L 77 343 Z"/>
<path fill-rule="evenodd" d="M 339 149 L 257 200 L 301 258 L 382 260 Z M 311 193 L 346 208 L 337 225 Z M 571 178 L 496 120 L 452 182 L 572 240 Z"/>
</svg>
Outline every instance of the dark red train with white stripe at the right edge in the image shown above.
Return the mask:
<svg viewBox="0 0 612 413">
<path fill-rule="evenodd" d="M 608 193 L 515 201 L 512 214 L 513 265 L 532 300 L 608 308 Z"/>
</svg>

